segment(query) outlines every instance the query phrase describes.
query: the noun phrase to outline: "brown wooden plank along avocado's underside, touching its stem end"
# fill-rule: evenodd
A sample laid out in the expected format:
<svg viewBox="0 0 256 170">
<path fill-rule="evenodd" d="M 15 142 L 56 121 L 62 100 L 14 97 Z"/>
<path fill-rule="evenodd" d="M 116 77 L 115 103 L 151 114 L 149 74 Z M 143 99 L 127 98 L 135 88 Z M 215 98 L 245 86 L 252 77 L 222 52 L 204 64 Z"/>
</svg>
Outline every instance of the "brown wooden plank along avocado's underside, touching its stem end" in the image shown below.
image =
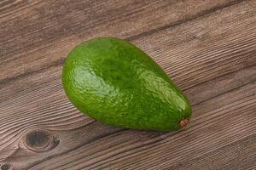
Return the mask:
<svg viewBox="0 0 256 170">
<path fill-rule="evenodd" d="M 217 88 L 222 87 L 219 80 L 212 83 Z M 113 133 L 93 140 L 89 144 L 85 143 L 75 150 L 64 152 L 32 169 L 44 169 L 45 166 L 48 169 L 82 169 L 85 167 L 88 169 L 93 167 L 121 169 L 129 166 L 131 169 L 146 168 L 146 166 L 147 168 L 152 166 L 155 169 L 178 161 L 189 161 L 196 156 L 201 156 L 202 153 L 218 150 L 226 144 L 231 145 L 236 140 L 255 133 L 253 123 L 256 108 L 255 97 L 252 96 L 255 92 L 255 82 L 249 83 L 233 92 L 194 105 L 195 116 L 189 127 L 180 133 L 148 133 L 132 130 Z M 234 95 L 236 97 L 232 98 Z M 223 103 L 224 99 L 230 100 Z M 204 111 L 201 111 L 201 108 L 205 108 Z M 86 130 L 84 129 L 84 132 L 90 133 Z M 76 136 L 80 133 L 73 134 L 73 138 L 78 139 Z M 82 137 L 85 141 L 87 138 Z M 65 140 L 61 141 L 65 142 Z M 212 159 L 216 159 L 216 156 Z M 160 165 L 160 163 L 166 163 L 166 165 Z M 251 163 L 253 164 L 253 161 Z"/>
</svg>

